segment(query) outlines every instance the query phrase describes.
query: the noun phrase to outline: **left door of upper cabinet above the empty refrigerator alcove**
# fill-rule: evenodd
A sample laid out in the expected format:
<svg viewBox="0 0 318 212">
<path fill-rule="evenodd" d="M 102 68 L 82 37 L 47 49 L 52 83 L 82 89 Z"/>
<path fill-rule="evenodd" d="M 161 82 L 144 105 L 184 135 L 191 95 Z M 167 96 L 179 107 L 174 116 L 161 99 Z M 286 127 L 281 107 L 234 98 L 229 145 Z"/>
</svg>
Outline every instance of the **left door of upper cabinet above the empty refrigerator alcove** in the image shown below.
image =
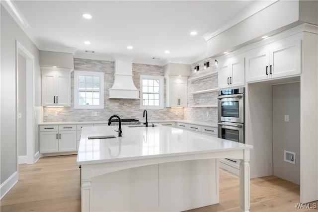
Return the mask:
<svg viewBox="0 0 318 212">
<path fill-rule="evenodd" d="M 260 47 L 247 52 L 245 66 L 246 81 L 267 79 L 269 77 L 269 50 L 266 47 Z"/>
</svg>

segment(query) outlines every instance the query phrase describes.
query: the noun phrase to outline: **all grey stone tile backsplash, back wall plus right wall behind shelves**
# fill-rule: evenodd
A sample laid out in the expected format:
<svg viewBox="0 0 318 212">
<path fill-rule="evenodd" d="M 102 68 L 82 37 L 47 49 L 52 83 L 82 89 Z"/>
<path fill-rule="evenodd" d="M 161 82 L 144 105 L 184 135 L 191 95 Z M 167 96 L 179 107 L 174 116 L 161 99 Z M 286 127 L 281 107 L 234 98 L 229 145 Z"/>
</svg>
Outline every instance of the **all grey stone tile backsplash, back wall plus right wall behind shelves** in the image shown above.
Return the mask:
<svg viewBox="0 0 318 212">
<path fill-rule="evenodd" d="M 204 62 L 210 61 L 210 67 L 203 69 Z M 212 58 L 198 61 L 191 65 L 190 77 L 205 75 L 216 71 Z M 194 67 L 200 66 L 200 71 L 195 72 Z M 111 115 L 118 115 L 123 119 L 137 119 L 144 121 L 143 110 L 140 109 L 139 99 L 108 99 L 108 89 L 114 81 L 114 62 L 74 59 L 76 71 L 102 71 L 104 72 L 104 109 L 74 109 L 74 72 L 71 73 L 71 107 L 44 107 L 44 122 L 80 122 L 80 121 L 107 121 Z M 137 89 L 140 89 L 140 75 L 163 76 L 163 66 L 133 64 L 133 80 Z M 198 90 L 206 90 L 218 87 L 218 75 L 208 78 L 188 81 L 188 105 L 217 105 L 217 92 L 189 94 Z M 164 97 L 165 97 L 164 82 Z M 164 98 L 165 106 L 165 98 Z M 217 108 L 166 108 L 147 109 L 149 120 L 187 119 L 216 124 L 218 121 Z M 94 112 L 97 116 L 94 116 Z"/>
</svg>

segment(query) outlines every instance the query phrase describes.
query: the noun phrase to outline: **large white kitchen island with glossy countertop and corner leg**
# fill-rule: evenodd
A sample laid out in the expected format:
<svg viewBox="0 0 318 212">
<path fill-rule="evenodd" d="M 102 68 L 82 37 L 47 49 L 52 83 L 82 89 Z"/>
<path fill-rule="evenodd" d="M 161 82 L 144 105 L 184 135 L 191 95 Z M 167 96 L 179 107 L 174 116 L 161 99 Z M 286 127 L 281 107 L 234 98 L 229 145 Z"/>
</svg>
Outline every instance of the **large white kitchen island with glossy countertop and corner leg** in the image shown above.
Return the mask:
<svg viewBox="0 0 318 212">
<path fill-rule="evenodd" d="M 240 159 L 240 209 L 249 211 L 252 146 L 165 126 L 83 127 L 81 210 L 185 211 L 219 203 L 218 158 Z M 110 139 L 91 139 L 115 136 Z"/>
</svg>

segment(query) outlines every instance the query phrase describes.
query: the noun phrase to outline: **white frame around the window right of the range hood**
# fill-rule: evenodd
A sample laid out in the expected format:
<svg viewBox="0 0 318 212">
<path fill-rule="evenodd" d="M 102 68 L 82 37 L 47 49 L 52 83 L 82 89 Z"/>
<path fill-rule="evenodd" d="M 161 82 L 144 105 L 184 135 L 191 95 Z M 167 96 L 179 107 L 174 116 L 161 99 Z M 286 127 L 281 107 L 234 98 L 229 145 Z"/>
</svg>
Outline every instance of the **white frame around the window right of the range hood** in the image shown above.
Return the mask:
<svg viewBox="0 0 318 212">
<path fill-rule="evenodd" d="M 159 106 L 144 106 L 143 105 L 143 79 L 157 79 L 159 80 Z M 140 75 L 140 108 L 141 109 L 163 109 L 163 76 L 153 76 L 153 75 Z"/>
</svg>

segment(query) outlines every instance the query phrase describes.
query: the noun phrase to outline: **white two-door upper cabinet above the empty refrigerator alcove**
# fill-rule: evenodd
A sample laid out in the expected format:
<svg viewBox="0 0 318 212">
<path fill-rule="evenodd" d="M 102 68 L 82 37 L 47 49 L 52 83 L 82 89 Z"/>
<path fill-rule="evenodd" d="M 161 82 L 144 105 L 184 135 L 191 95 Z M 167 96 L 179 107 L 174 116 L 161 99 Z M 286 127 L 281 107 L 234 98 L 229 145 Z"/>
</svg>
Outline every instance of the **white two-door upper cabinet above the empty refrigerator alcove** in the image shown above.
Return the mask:
<svg viewBox="0 0 318 212">
<path fill-rule="evenodd" d="M 246 53 L 246 81 L 301 73 L 301 40 L 275 42 Z"/>
</svg>

